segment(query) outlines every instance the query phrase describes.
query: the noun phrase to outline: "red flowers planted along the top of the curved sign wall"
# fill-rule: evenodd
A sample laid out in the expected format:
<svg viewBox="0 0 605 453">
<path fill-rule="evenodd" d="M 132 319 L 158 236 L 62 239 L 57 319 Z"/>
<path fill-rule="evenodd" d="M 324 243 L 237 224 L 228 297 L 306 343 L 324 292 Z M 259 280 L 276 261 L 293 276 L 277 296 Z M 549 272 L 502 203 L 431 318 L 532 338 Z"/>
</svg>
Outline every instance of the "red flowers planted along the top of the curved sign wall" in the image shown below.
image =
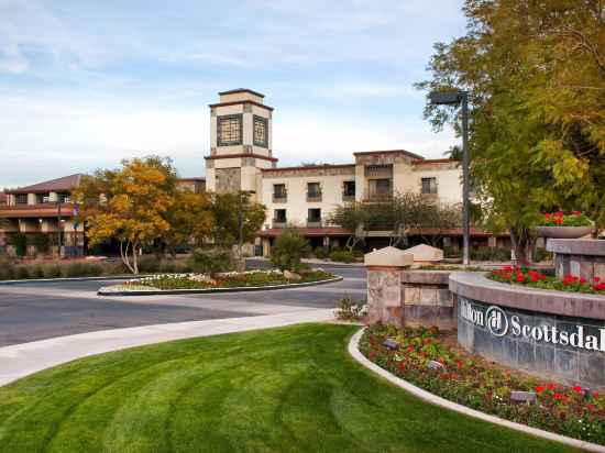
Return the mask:
<svg viewBox="0 0 605 453">
<path fill-rule="evenodd" d="M 506 266 L 502 269 L 492 270 L 487 274 L 487 278 L 532 288 L 605 296 L 605 281 L 602 281 L 600 277 L 595 277 L 593 281 L 587 281 L 585 278 L 575 275 L 566 275 L 562 280 L 559 280 L 556 277 L 550 277 L 536 269 Z"/>
</svg>

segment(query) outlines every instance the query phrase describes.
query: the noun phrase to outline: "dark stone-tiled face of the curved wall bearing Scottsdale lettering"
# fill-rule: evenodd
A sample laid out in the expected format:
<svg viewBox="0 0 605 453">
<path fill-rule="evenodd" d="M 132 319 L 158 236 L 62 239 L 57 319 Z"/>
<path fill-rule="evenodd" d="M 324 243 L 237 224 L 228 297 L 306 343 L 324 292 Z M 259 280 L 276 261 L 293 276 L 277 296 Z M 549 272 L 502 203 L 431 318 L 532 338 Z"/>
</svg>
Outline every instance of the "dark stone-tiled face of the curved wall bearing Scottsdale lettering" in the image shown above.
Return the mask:
<svg viewBox="0 0 605 453">
<path fill-rule="evenodd" d="M 458 296 L 466 351 L 570 385 L 605 387 L 605 321 L 495 306 Z"/>
</svg>

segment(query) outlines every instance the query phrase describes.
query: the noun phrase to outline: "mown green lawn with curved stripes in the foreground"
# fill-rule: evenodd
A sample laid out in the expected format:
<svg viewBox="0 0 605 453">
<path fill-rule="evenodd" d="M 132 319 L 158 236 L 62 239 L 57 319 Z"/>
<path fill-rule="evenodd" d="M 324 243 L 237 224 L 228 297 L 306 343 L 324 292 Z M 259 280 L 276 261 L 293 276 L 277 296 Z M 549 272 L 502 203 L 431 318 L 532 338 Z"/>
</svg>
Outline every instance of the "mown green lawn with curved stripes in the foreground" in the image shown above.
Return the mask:
<svg viewBox="0 0 605 453">
<path fill-rule="evenodd" d="M 561 452 L 421 402 L 305 324 L 163 343 L 0 387 L 0 452 Z"/>
</svg>

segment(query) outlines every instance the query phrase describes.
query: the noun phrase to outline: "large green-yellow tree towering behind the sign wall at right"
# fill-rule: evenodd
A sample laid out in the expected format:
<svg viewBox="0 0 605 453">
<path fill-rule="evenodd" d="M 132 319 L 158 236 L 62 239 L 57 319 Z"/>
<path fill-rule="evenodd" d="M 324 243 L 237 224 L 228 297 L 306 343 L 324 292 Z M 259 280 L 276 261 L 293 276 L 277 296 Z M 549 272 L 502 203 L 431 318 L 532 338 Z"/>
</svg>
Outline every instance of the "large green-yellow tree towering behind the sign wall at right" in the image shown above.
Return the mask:
<svg viewBox="0 0 605 453">
<path fill-rule="evenodd" d="M 470 93 L 473 188 L 486 225 L 529 261 L 541 211 L 605 224 L 605 27 L 598 0 L 468 0 L 466 35 L 438 43 L 417 84 Z M 425 109 L 459 131 L 454 107 Z M 460 132 L 460 131 L 459 131 Z"/>
</svg>

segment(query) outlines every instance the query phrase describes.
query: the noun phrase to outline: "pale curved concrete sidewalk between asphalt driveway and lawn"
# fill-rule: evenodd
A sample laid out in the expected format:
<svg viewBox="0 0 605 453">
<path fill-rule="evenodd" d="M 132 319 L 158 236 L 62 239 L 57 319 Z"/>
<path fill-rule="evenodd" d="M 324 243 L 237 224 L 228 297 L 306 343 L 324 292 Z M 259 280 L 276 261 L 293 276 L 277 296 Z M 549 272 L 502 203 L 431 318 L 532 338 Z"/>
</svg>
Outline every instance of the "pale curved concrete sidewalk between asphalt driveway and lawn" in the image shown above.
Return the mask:
<svg viewBox="0 0 605 453">
<path fill-rule="evenodd" d="M 0 347 L 0 386 L 76 358 L 170 340 L 324 322 L 334 309 L 102 330 Z"/>
</svg>

